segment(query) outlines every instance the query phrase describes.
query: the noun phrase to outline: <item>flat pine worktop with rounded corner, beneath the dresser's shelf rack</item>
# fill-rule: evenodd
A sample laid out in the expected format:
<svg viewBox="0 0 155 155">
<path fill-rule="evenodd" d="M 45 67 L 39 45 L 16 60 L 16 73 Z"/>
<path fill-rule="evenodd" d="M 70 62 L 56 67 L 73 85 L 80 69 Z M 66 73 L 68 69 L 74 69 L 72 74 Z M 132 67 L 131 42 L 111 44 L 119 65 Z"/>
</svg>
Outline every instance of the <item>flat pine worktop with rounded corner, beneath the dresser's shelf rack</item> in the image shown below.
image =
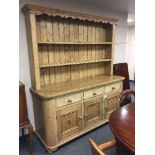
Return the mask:
<svg viewBox="0 0 155 155">
<path fill-rule="evenodd" d="M 84 78 L 80 80 L 68 81 L 64 83 L 58 83 L 41 88 L 41 90 L 35 90 L 30 88 L 32 93 L 35 93 L 41 98 L 53 98 L 77 91 L 82 91 L 90 88 L 95 88 L 102 85 L 118 82 L 124 80 L 124 77 L 114 75 L 100 75 L 93 78 Z"/>
</svg>

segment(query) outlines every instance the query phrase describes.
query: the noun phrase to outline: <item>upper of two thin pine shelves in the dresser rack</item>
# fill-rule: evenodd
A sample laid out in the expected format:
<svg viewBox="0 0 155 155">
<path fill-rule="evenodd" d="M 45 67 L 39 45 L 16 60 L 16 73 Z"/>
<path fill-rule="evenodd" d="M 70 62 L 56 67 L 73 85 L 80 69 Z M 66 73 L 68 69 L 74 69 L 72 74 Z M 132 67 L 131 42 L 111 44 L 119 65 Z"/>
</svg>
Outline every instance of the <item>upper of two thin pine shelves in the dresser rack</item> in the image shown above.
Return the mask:
<svg viewBox="0 0 155 155">
<path fill-rule="evenodd" d="M 38 41 L 38 44 L 58 44 L 58 45 L 111 45 L 112 42 L 44 42 Z"/>
</svg>

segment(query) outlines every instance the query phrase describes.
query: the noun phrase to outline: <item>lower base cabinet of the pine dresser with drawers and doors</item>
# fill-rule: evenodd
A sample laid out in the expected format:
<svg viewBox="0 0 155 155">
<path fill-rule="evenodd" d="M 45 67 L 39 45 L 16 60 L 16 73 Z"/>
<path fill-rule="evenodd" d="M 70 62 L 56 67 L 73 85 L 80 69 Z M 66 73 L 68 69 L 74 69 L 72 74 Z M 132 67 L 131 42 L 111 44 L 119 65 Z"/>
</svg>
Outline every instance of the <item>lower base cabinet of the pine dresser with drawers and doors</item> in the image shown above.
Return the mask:
<svg viewBox="0 0 155 155">
<path fill-rule="evenodd" d="M 108 121 L 110 113 L 119 107 L 122 78 L 117 78 L 117 82 L 61 95 L 31 89 L 36 133 L 48 152 Z"/>
</svg>

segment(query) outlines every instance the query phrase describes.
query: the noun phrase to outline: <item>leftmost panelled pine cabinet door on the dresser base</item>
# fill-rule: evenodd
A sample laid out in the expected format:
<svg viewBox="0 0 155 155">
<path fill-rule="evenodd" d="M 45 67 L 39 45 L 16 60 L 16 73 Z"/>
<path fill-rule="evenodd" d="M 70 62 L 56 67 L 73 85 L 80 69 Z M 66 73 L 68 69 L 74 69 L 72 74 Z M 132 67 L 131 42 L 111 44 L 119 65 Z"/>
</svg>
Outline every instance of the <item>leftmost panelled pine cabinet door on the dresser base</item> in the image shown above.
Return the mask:
<svg viewBox="0 0 155 155">
<path fill-rule="evenodd" d="M 66 138 L 81 130 L 81 103 L 57 110 L 58 139 Z"/>
</svg>

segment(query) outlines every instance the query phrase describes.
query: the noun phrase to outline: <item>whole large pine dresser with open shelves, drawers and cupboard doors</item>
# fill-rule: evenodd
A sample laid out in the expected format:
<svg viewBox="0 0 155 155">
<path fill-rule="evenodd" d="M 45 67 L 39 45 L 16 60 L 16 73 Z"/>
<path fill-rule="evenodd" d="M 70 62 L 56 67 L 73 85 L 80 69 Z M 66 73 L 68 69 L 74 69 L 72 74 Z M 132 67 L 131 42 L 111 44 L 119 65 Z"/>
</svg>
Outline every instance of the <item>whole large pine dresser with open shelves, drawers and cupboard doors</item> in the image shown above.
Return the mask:
<svg viewBox="0 0 155 155">
<path fill-rule="evenodd" d="M 47 151 L 106 123 L 119 107 L 117 19 L 25 5 L 36 134 Z"/>
</svg>

